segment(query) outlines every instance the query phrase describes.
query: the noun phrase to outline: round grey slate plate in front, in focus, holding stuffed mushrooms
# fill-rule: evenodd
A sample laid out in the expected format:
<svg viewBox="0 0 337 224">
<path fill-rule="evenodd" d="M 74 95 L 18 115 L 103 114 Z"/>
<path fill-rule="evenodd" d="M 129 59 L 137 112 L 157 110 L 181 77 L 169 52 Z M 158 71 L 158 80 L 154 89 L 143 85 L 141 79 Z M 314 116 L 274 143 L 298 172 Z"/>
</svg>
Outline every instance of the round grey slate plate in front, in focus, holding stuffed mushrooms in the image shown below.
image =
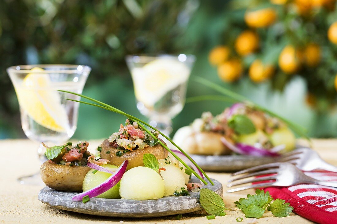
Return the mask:
<svg viewBox="0 0 337 224">
<path fill-rule="evenodd" d="M 214 186 L 205 185 L 215 193 L 223 196 L 222 185 L 213 180 Z M 196 177 L 191 182 L 200 182 Z M 38 199 L 53 208 L 79 212 L 84 214 L 111 216 L 121 218 L 145 218 L 177 215 L 203 210 L 199 203 L 200 192 L 190 192 L 190 196 L 166 196 L 157 200 L 129 200 L 129 199 L 106 199 L 91 198 L 87 203 L 72 201 L 75 192 L 57 191 L 49 187 L 43 188 Z"/>
</svg>

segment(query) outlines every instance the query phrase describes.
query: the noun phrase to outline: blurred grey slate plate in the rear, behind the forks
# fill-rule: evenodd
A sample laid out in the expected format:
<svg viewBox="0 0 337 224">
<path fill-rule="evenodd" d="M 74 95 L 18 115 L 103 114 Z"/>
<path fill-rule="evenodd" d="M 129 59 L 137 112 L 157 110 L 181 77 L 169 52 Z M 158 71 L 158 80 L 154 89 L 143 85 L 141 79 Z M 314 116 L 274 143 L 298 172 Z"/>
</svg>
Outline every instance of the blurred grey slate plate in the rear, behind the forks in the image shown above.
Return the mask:
<svg viewBox="0 0 337 224">
<path fill-rule="evenodd" d="M 262 164 L 273 163 L 273 157 L 256 157 L 249 155 L 195 155 L 192 159 L 204 171 L 237 171 Z"/>
</svg>

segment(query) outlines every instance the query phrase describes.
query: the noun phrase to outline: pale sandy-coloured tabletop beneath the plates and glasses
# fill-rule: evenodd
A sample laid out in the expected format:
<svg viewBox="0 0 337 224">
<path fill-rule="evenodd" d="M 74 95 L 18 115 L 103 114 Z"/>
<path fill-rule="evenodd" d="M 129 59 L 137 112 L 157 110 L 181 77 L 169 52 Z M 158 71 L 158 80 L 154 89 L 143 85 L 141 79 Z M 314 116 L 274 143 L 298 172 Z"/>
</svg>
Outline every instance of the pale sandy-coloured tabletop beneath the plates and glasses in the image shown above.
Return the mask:
<svg viewBox="0 0 337 224">
<path fill-rule="evenodd" d="M 90 149 L 96 148 L 101 140 L 89 141 Z M 318 151 L 327 162 L 337 165 L 337 139 L 314 139 L 313 148 Z M 244 218 L 241 210 L 227 211 L 225 217 L 216 217 L 215 220 L 207 220 L 205 212 L 183 214 L 181 220 L 175 220 L 175 216 L 134 219 L 99 217 L 74 212 L 53 209 L 42 204 L 37 199 L 37 194 L 43 186 L 22 185 L 17 181 L 20 176 L 25 176 L 39 170 L 39 162 L 36 156 L 37 144 L 29 140 L 1 140 L 0 151 L 3 155 L 0 172 L 0 223 L 237 223 L 236 218 Z M 208 173 L 211 178 L 217 179 L 226 185 L 228 173 Z M 225 190 L 225 187 L 224 187 Z M 235 208 L 234 201 L 240 197 L 254 193 L 246 190 L 227 194 L 224 192 L 223 200 L 226 207 Z M 113 208 L 112 208 L 113 209 Z M 243 220 L 243 223 L 251 223 L 251 219 Z M 266 212 L 257 223 L 311 223 L 310 221 L 292 213 L 290 217 L 276 218 L 270 212 Z"/>
</svg>

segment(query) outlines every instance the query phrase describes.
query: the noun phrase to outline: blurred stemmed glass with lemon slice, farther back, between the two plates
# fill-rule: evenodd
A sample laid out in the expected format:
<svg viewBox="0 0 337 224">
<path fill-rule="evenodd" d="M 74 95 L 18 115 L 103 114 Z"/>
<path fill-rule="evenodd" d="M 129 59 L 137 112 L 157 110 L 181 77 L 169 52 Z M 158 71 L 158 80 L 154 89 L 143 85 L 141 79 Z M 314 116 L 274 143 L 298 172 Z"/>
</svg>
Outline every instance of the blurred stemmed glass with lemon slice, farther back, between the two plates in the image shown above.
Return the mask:
<svg viewBox="0 0 337 224">
<path fill-rule="evenodd" d="M 184 107 L 194 55 L 128 55 L 137 108 L 150 125 L 169 136 L 172 119 Z"/>
</svg>

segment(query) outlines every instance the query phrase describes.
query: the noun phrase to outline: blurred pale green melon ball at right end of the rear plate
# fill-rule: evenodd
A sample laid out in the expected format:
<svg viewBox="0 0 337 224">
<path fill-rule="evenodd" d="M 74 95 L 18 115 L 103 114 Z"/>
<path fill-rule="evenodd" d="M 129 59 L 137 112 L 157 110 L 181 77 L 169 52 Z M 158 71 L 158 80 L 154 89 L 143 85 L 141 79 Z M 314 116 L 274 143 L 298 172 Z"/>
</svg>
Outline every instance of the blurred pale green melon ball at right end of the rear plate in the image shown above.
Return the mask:
<svg viewBox="0 0 337 224">
<path fill-rule="evenodd" d="M 280 151 L 281 153 L 291 151 L 295 148 L 296 138 L 292 131 L 289 128 L 280 128 L 273 131 L 269 135 L 270 142 L 274 145 L 285 145 L 285 148 Z"/>
</svg>

